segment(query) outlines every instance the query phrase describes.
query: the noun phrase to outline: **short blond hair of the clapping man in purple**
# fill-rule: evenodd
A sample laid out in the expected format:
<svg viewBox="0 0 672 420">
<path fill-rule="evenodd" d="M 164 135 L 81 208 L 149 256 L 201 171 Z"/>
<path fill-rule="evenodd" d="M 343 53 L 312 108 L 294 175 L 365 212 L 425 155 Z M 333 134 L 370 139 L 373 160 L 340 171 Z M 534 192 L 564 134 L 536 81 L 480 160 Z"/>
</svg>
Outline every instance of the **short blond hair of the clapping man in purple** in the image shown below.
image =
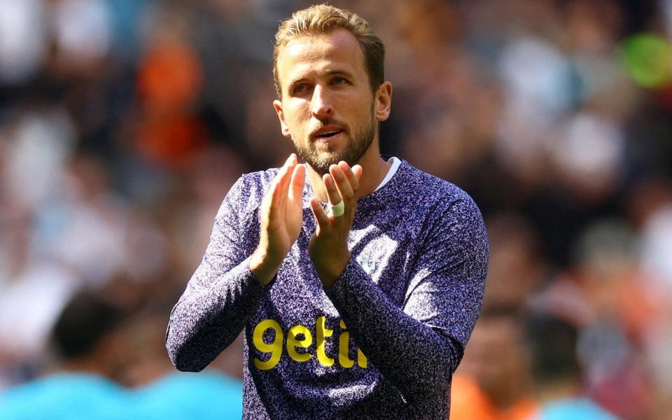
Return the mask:
<svg viewBox="0 0 672 420">
<path fill-rule="evenodd" d="M 355 36 L 364 54 L 366 72 L 372 92 L 376 92 L 385 78 L 385 46 L 369 23 L 349 10 L 335 8 L 327 4 L 316 4 L 295 12 L 283 21 L 275 34 L 273 48 L 273 82 L 278 99 L 282 90 L 278 76 L 278 58 L 282 48 L 297 36 L 328 34 L 342 28 Z"/>
</svg>

